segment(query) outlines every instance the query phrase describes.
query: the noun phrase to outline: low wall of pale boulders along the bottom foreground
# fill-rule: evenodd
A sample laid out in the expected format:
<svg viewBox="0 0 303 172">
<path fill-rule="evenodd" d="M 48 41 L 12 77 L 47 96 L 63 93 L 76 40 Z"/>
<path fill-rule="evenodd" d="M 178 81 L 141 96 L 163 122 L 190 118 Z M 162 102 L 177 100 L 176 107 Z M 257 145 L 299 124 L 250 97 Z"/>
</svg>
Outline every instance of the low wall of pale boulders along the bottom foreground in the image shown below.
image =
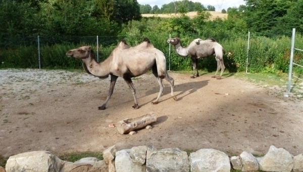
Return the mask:
<svg viewBox="0 0 303 172">
<path fill-rule="evenodd" d="M 47 151 L 33 151 L 11 156 L 6 172 L 229 172 L 239 171 L 303 171 L 303 154 L 291 155 L 283 148 L 270 146 L 263 157 L 248 152 L 228 157 L 214 149 L 200 149 L 190 153 L 179 148 L 156 149 L 154 146 L 138 146 L 117 151 L 112 146 L 103 152 L 104 160 L 82 158 L 74 163 L 59 159 Z M 5 171 L 0 167 L 0 172 Z"/>
</svg>

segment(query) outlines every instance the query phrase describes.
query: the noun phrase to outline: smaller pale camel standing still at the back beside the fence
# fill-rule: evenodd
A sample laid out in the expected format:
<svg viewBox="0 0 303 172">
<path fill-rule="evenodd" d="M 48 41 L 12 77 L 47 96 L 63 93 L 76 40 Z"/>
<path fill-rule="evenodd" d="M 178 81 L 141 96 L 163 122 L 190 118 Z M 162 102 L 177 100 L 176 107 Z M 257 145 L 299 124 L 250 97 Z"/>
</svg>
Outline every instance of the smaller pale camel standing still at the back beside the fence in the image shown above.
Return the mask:
<svg viewBox="0 0 303 172">
<path fill-rule="evenodd" d="M 221 69 L 221 74 L 217 79 L 221 79 L 222 74 L 224 72 L 225 66 L 223 63 L 223 54 L 224 49 L 223 47 L 213 38 L 202 40 L 200 38 L 194 39 L 188 47 L 183 48 L 180 38 L 170 38 L 167 39 L 167 43 L 174 45 L 175 52 L 178 56 L 181 57 L 191 57 L 192 61 L 192 68 L 193 68 L 193 75 L 190 76 L 191 78 L 195 78 L 199 76 L 198 72 L 198 59 L 199 58 L 206 58 L 211 55 L 215 55 L 217 61 L 217 71 L 213 78 L 216 77 L 218 71 Z M 195 74 L 196 71 L 196 74 Z"/>
</svg>

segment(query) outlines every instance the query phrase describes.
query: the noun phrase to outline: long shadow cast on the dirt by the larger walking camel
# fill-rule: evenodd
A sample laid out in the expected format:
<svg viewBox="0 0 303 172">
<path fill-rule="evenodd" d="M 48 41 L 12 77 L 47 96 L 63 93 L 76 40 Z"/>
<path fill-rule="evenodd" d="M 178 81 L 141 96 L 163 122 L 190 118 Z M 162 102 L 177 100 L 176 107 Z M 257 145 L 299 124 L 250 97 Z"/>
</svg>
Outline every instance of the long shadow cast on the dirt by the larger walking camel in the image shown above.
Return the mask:
<svg viewBox="0 0 303 172">
<path fill-rule="evenodd" d="M 182 100 L 184 97 L 196 92 L 198 89 L 201 89 L 203 87 L 205 87 L 208 84 L 209 80 L 200 80 L 200 81 L 192 81 L 192 82 L 186 82 L 186 83 L 181 83 L 181 84 L 177 84 L 174 87 L 174 93 L 176 92 L 180 92 L 178 94 L 176 94 L 175 96 L 177 96 L 177 101 Z M 187 93 L 188 92 L 188 93 Z M 153 89 L 150 89 L 148 91 L 145 92 L 145 96 L 151 95 L 151 94 L 155 94 L 155 93 L 159 93 L 159 87 L 154 87 Z M 165 89 L 161 95 L 161 98 L 167 94 L 171 93 L 171 89 L 170 89 L 170 84 L 165 84 Z M 142 97 L 145 97 L 142 96 Z M 140 98 L 142 98 L 140 97 Z M 153 100 L 150 100 L 144 104 L 141 104 L 140 107 L 153 102 L 154 100 L 156 100 L 156 98 L 154 98 Z M 162 99 L 159 101 L 159 103 L 172 99 L 172 97 L 169 97 L 167 99 Z"/>
</svg>

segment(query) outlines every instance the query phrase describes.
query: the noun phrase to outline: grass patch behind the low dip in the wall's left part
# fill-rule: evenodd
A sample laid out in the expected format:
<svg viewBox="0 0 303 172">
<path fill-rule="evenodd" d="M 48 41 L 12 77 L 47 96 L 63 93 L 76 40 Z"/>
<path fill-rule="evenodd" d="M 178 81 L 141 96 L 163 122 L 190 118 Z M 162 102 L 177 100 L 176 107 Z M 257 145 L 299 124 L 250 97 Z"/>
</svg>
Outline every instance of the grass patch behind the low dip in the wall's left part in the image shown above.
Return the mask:
<svg viewBox="0 0 303 172">
<path fill-rule="evenodd" d="M 75 162 L 77 160 L 80 160 L 82 158 L 86 157 L 95 157 L 99 160 L 103 160 L 103 154 L 99 152 L 74 152 L 74 153 L 68 153 L 64 154 L 62 156 L 59 156 L 61 160 L 68 161 L 68 162 Z"/>
</svg>

